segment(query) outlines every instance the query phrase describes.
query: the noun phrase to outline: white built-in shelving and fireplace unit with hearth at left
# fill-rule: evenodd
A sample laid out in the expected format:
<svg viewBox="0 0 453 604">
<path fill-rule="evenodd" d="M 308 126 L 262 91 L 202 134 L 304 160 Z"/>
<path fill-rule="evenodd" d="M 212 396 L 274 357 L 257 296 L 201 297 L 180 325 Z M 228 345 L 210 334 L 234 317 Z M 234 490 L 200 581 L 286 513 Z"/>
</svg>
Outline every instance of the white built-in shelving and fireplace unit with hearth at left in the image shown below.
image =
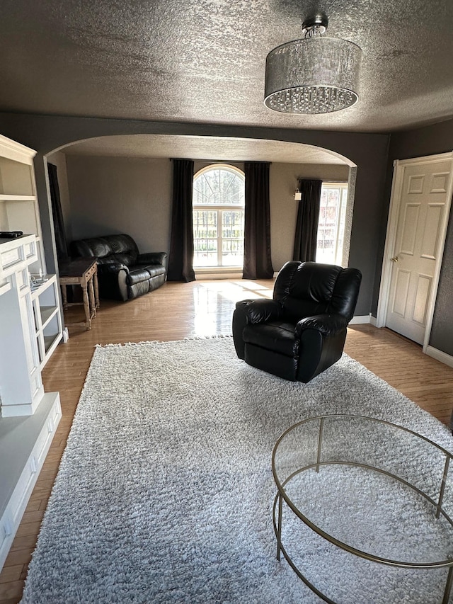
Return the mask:
<svg viewBox="0 0 453 604">
<path fill-rule="evenodd" d="M 46 273 L 32 149 L 0 136 L 0 569 L 62 416 L 41 370 L 62 338 L 59 287 Z"/>
</svg>

